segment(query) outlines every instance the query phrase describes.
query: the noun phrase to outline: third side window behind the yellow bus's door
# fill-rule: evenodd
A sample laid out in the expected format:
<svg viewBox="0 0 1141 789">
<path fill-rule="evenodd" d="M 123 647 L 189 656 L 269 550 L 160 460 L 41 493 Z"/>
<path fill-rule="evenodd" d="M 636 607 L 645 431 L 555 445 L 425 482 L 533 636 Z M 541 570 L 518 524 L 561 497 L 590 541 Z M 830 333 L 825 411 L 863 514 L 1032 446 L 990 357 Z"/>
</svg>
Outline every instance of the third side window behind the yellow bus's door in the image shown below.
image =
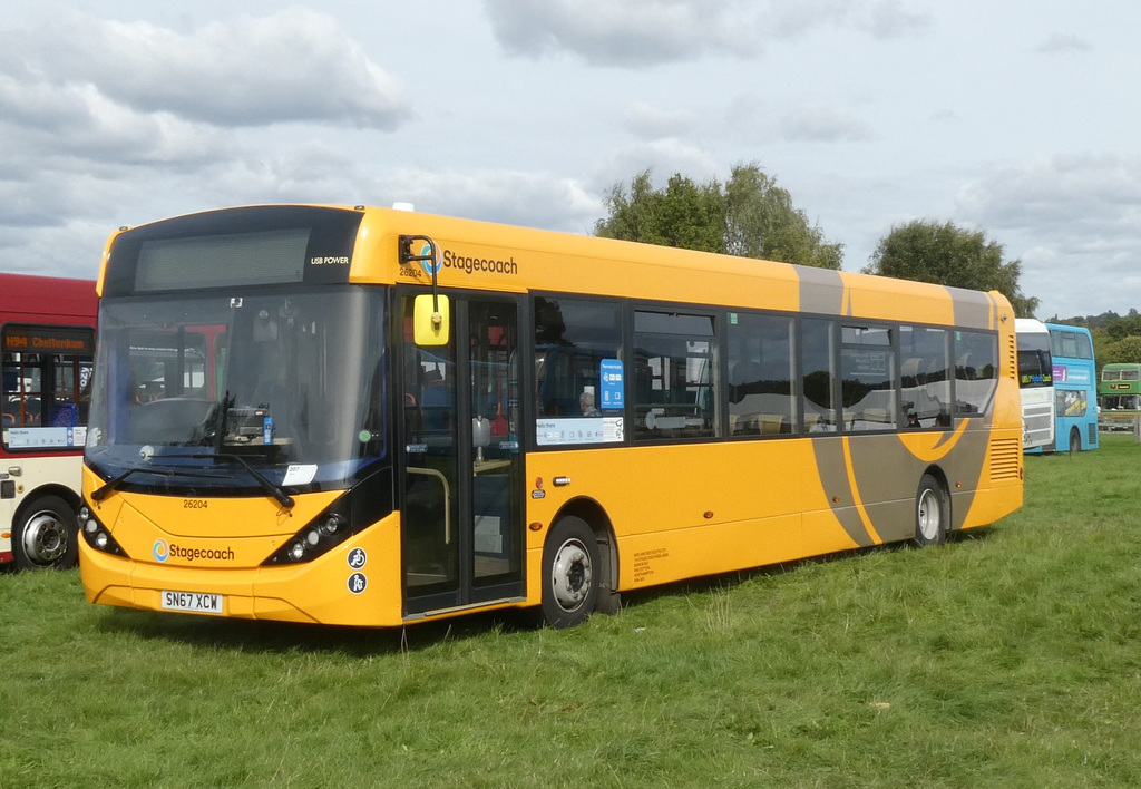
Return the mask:
<svg viewBox="0 0 1141 789">
<path fill-rule="evenodd" d="M 793 389 L 792 319 L 729 313 L 729 434 L 792 433 L 796 424 Z"/>
</svg>

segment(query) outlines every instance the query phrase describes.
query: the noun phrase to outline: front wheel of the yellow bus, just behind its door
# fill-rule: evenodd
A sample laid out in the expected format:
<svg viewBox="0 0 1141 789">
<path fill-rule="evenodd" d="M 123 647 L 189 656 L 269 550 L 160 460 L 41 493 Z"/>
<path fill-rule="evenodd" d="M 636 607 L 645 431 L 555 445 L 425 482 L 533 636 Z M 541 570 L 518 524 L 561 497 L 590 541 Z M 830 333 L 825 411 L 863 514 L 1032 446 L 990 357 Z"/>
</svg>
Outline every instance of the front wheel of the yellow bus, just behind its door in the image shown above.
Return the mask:
<svg viewBox="0 0 1141 789">
<path fill-rule="evenodd" d="M 580 517 L 560 518 L 543 545 L 543 619 L 553 628 L 590 618 L 601 564 L 594 532 Z"/>
</svg>

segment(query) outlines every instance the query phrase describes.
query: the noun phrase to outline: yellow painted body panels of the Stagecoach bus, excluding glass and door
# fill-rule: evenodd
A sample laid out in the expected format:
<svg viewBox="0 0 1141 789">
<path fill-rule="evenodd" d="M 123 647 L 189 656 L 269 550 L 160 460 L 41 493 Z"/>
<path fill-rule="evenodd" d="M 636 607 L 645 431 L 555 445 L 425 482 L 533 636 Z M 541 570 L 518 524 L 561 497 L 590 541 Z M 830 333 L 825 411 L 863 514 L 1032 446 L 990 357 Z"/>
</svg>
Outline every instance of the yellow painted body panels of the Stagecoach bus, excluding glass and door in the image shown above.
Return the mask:
<svg viewBox="0 0 1141 789">
<path fill-rule="evenodd" d="M 882 524 L 903 518 L 911 528 L 914 481 L 928 467 L 946 474 L 956 529 L 993 523 L 1021 505 L 1014 320 L 997 292 L 952 292 L 861 274 L 371 208 L 363 212 L 349 281 L 430 287 L 422 266 L 399 263 L 402 234 L 435 241 L 442 256 L 438 284 L 453 290 L 828 314 L 802 303 L 808 292 L 834 305 L 833 315 L 866 321 L 963 325 L 955 311 L 965 305 L 972 328 L 998 332 L 1003 370 L 989 425 L 960 419 L 949 432 L 529 452 L 519 526 L 526 539 L 526 599 L 518 604 L 540 603 L 544 538 L 576 502 L 605 513 L 601 528 L 615 539 L 618 589 L 907 539 Z M 108 251 L 113 242 L 114 236 Z M 814 284 L 806 287 L 806 281 Z M 892 474 L 907 475 L 909 482 L 884 499 L 875 491 Z M 556 477 L 565 484 L 553 485 Z M 90 493 L 102 484 L 84 469 L 86 500 L 132 559 L 81 541 L 91 602 L 157 610 L 160 591 L 181 590 L 224 595 L 224 613 L 230 617 L 358 626 L 404 621 L 398 513 L 313 562 L 261 566 L 338 492 L 297 496 L 288 512 L 268 497 L 211 498 L 205 508 L 192 509 L 181 498 L 121 491 L 92 502 Z M 160 561 L 160 542 L 232 550 L 234 558 L 170 555 Z M 351 594 L 348 555 L 358 547 L 369 557 L 367 588 Z"/>
</svg>

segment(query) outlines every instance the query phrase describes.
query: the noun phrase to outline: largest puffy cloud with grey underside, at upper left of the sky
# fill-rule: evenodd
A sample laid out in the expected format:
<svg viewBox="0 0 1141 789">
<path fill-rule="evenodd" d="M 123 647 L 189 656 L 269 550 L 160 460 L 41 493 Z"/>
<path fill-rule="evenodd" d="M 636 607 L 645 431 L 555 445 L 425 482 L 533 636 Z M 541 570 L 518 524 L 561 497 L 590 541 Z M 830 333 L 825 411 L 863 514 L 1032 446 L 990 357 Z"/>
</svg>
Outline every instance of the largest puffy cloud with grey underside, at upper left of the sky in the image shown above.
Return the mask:
<svg viewBox="0 0 1141 789">
<path fill-rule="evenodd" d="M 331 17 L 301 8 L 188 33 L 72 14 L 17 38 L 29 71 L 137 112 L 217 126 L 349 122 L 394 129 L 403 91 Z"/>
</svg>

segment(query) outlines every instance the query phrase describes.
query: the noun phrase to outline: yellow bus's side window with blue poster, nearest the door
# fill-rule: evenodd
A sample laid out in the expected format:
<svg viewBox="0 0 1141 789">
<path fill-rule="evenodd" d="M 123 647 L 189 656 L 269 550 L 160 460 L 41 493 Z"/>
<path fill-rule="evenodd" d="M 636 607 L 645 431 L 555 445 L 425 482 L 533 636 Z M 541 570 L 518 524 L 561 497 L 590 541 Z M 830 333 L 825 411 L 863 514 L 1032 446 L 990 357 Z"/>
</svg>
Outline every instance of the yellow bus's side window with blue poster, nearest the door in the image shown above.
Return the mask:
<svg viewBox="0 0 1141 789">
<path fill-rule="evenodd" d="M 535 430 L 540 446 L 624 440 L 622 309 L 536 297 Z"/>
</svg>

